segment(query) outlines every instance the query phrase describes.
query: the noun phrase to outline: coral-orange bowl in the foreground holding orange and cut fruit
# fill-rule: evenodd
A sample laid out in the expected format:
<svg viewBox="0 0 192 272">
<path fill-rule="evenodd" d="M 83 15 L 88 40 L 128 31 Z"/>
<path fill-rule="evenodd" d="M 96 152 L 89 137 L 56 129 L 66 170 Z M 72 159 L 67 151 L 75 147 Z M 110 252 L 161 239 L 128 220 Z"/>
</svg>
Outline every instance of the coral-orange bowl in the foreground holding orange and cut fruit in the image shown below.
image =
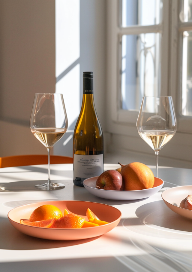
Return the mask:
<svg viewBox="0 0 192 272">
<path fill-rule="evenodd" d="M 68 212 L 74 213 L 76 215 L 85 218 L 86 211 L 89 208 L 95 215 L 98 216 L 100 220 L 107 221 L 109 224 L 101 225 L 97 227 L 88 228 L 42 228 L 37 226 L 23 225 L 20 224 L 20 219 L 29 219 L 32 212 L 42 205 L 54 205 L 64 213 L 64 209 Z M 44 201 L 38 203 L 32 203 L 28 205 L 23 205 L 12 209 L 8 213 L 8 218 L 18 231 L 38 238 L 49 239 L 49 240 L 81 240 L 87 238 L 93 238 L 107 233 L 108 231 L 115 228 L 120 219 L 121 212 L 115 207 L 95 202 L 88 201 Z"/>
</svg>

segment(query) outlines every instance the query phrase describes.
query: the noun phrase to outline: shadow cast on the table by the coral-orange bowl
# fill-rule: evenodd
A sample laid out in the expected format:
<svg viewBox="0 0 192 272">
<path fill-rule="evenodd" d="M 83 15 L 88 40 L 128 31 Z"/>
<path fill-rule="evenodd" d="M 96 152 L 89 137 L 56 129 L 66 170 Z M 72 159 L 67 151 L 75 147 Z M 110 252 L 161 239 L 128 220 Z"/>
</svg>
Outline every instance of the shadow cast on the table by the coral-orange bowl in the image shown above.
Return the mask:
<svg viewBox="0 0 192 272">
<path fill-rule="evenodd" d="M 101 236 L 74 241 L 40 239 L 22 234 L 21 232 L 13 228 L 8 219 L 0 217 L 0 249 L 33 250 L 58 248 L 88 243 L 90 241 L 98 239 L 99 237 Z"/>
</svg>

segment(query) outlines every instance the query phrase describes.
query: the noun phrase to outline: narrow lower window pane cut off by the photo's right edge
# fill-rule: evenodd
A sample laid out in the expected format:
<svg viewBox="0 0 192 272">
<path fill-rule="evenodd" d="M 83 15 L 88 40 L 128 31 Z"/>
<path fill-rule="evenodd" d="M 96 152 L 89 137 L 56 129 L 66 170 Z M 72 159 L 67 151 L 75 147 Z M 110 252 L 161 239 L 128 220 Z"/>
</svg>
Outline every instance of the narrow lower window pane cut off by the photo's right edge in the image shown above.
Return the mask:
<svg viewBox="0 0 192 272">
<path fill-rule="evenodd" d="M 192 31 L 183 32 L 182 115 L 192 116 Z"/>
</svg>

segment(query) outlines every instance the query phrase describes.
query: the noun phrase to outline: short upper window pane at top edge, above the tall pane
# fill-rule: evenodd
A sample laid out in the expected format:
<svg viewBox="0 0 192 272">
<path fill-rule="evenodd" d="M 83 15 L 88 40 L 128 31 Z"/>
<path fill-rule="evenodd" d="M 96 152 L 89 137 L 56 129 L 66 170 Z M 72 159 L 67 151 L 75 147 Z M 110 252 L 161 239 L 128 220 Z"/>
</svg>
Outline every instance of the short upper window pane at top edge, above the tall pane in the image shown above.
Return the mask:
<svg viewBox="0 0 192 272">
<path fill-rule="evenodd" d="M 159 24 L 162 7 L 161 0 L 122 0 L 122 27 Z"/>
</svg>

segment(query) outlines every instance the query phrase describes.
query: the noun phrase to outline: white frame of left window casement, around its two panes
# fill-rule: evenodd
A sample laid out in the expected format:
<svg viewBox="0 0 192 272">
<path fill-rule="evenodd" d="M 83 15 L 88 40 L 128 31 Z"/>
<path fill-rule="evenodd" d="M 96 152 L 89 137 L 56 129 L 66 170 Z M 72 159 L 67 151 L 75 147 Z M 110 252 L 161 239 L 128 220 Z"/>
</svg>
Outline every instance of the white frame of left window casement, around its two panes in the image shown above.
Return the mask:
<svg viewBox="0 0 192 272">
<path fill-rule="evenodd" d="M 121 27 L 119 22 L 119 10 L 121 0 L 108 0 L 108 84 L 111 92 L 112 121 L 117 123 L 136 124 L 138 111 L 121 109 L 121 47 L 122 35 L 134 35 L 141 33 L 158 33 L 161 37 L 161 95 L 168 95 L 168 53 L 169 53 L 169 28 L 165 27 L 169 22 L 169 0 L 163 0 L 162 22 L 152 26 Z M 108 85 L 108 86 L 109 86 Z"/>
</svg>

